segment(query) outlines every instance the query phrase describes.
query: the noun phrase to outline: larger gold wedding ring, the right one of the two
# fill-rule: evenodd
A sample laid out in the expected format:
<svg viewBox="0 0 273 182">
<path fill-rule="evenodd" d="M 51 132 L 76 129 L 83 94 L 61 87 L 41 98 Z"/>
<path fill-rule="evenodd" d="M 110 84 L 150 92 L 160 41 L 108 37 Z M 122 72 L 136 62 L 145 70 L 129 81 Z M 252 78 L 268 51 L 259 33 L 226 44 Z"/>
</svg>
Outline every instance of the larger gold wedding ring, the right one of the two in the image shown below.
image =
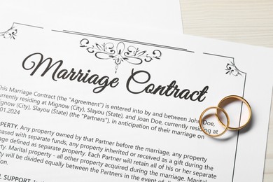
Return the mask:
<svg viewBox="0 0 273 182">
<path fill-rule="evenodd" d="M 240 127 L 229 127 L 229 126 L 228 126 L 228 130 L 241 130 L 241 128 L 245 127 L 245 126 L 249 123 L 249 121 L 251 120 L 251 113 L 252 113 L 252 112 L 251 112 L 251 106 L 248 104 L 248 102 L 246 101 L 246 99 L 244 99 L 243 97 L 240 97 L 240 96 L 238 96 L 238 95 L 229 95 L 229 96 L 223 98 L 223 99 L 219 102 L 218 107 L 221 108 L 222 102 L 224 102 L 224 101 L 227 100 L 227 99 L 239 99 L 241 102 L 244 102 L 244 104 L 246 104 L 246 106 L 247 106 L 247 108 L 248 108 L 249 116 L 248 116 L 248 119 L 247 119 L 247 121 L 246 121 L 246 123 L 245 123 L 244 125 L 241 125 Z M 219 121 L 224 127 L 227 127 L 227 126 L 220 120 L 220 118 L 218 117 L 218 110 L 217 110 L 216 116 L 217 116 L 217 118 L 218 118 L 218 121 Z"/>
</svg>

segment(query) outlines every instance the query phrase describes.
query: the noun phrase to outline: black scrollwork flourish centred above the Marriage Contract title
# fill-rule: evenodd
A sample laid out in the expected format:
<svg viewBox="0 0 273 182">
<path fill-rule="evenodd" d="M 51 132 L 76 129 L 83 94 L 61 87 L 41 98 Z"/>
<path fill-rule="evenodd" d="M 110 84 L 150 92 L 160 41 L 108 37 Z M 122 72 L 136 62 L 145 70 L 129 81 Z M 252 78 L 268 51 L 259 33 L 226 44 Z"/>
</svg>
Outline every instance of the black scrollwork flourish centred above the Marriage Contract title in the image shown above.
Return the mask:
<svg viewBox="0 0 273 182">
<path fill-rule="evenodd" d="M 116 64 L 116 72 L 122 62 L 142 64 L 143 62 L 151 62 L 153 59 L 160 59 L 162 55 L 160 50 L 153 50 L 151 55 L 146 50 L 139 50 L 139 48 L 132 45 L 126 48 L 125 43 L 121 41 L 117 45 L 113 43 L 89 45 L 89 43 L 87 38 L 83 38 L 80 41 L 80 47 L 86 48 L 87 52 L 94 53 L 94 56 L 98 59 L 112 59 Z"/>
</svg>

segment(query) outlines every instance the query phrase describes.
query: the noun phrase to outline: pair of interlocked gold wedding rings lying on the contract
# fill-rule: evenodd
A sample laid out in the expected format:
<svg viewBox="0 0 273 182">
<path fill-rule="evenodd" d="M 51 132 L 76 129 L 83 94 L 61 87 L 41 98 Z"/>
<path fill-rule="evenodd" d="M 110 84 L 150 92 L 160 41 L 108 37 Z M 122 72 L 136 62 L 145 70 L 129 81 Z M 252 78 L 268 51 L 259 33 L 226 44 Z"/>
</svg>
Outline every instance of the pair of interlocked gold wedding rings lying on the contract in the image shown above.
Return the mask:
<svg viewBox="0 0 273 182">
<path fill-rule="evenodd" d="M 222 105 L 224 102 L 226 102 L 227 100 L 229 99 L 238 99 L 239 101 L 243 102 L 244 104 L 246 104 L 247 108 L 248 108 L 248 118 L 246 119 L 246 122 L 244 123 L 244 125 L 240 125 L 239 127 L 230 127 L 230 117 L 228 116 L 228 113 L 222 108 Z M 225 128 L 225 130 L 223 130 L 223 132 L 221 133 L 217 133 L 217 134 L 211 134 L 209 132 L 207 132 L 205 129 L 204 129 L 204 126 L 203 126 L 203 123 L 204 123 L 204 114 L 211 110 L 211 109 L 216 109 L 216 117 L 219 121 L 219 123 Z M 226 123 L 223 123 L 223 121 L 220 119 L 219 117 L 219 113 L 220 111 L 222 111 L 224 114 L 225 114 L 225 118 L 226 118 Z M 245 127 L 251 120 L 251 106 L 248 104 L 248 102 L 246 101 L 246 99 L 244 99 L 243 97 L 240 97 L 238 95 L 229 95 L 228 97 L 224 97 L 223 99 L 221 99 L 221 101 L 218 103 L 218 106 L 212 106 L 212 107 L 209 107 L 207 109 L 205 109 L 202 113 L 201 113 L 201 116 L 200 116 L 200 120 L 199 120 L 199 124 L 200 124 L 200 127 L 201 127 L 201 130 L 209 135 L 210 137 L 220 137 L 221 135 L 225 134 L 225 132 L 227 132 L 228 130 L 241 130 L 243 127 Z"/>
</svg>

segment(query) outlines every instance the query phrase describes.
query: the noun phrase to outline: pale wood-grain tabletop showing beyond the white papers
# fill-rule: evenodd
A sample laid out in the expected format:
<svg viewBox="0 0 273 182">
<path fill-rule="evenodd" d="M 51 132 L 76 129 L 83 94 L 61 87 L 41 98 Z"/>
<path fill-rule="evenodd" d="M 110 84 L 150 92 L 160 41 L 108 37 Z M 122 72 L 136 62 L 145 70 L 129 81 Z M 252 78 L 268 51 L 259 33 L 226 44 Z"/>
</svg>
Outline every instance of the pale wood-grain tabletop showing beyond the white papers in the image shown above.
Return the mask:
<svg viewBox="0 0 273 182">
<path fill-rule="evenodd" d="M 273 48 L 272 0 L 180 0 L 180 3 L 184 34 Z M 263 182 L 272 181 L 273 102 Z"/>
</svg>

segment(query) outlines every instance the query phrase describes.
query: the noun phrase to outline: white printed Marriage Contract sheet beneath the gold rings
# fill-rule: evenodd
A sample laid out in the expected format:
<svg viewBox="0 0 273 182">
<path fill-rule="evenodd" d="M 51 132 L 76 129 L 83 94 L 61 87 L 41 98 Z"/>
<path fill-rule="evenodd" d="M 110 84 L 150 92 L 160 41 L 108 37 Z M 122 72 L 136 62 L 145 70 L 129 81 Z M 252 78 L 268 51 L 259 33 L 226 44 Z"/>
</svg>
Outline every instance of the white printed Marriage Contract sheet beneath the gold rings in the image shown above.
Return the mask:
<svg viewBox="0 0 273 182">
<path fill-rule="evenodd" d="M 1 181 L 262 181 L 272 50 L 79 29 L 1 32 Z M 208 137 L 200 114 L 233 94 L 251 123 Z"/>
</svg>

